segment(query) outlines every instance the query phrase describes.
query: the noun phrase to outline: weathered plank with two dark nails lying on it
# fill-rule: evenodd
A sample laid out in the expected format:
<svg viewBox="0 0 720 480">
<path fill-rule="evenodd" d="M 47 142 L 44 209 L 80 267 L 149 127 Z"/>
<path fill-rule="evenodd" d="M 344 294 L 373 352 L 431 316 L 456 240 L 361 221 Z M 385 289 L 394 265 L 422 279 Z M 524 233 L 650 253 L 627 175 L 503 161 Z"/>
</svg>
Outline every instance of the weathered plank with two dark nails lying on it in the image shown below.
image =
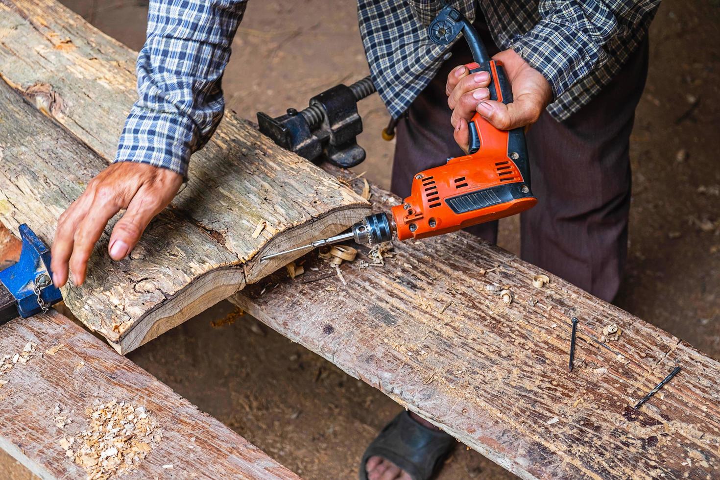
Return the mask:
<svg viewBox="0 0 720 480">
<path fill-rule="evenodd" d="M 376 209 L 399 201 L 372 194 Z M 394 246 L 384 266 L 343 263 L 347 285 L 310 253 L 302 276 L 279 271 L 233 302 L 523 478 L 720 476 L 718 361 L 552 275 L 535 288 L 539 268 L 464 232 Z M 613 323 L 620 338 L 603 342 Z"/>
</svg>

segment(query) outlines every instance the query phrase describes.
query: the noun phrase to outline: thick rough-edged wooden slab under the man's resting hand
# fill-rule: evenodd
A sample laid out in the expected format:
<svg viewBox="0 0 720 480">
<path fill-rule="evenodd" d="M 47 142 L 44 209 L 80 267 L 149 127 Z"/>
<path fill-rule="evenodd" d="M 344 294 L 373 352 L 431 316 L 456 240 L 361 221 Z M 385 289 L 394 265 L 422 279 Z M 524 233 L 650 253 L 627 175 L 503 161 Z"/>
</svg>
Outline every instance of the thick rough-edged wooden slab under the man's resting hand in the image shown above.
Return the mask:
<svg viewBox="0 0 720 480">
<path fill-rule="evenodd" d="M 0 76 L 66 130 L 4 87 L 0 220 L 8 227 L 27 222 L 50 241 L 63 209 L 114 158 L 136 96 L 135 57 L 54 1 L 0 2 Z M 109 261 L 107 229 L 86 284 L 63 296 L 126 353 L 292 259 L 260 263 L 261 251 L 333 235 L 366 211 L 336 179 L 228 114 L 130 258 Z"/>
</svg>

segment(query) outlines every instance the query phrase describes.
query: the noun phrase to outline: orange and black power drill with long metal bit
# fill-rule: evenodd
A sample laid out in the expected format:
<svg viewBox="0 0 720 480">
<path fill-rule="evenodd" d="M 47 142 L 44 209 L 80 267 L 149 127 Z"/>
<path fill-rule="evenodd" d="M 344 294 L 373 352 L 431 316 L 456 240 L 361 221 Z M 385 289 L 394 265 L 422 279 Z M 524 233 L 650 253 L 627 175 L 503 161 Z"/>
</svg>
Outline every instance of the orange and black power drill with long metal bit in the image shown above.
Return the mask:
<svg viewBox="0 0 720 480">
<path fill-rule="evenodd" d="M 460 32 L 475 60 L 466 65 L 470 73 L 489 72 L 490 99 L 505 104 L 513 101 L 502 63 L 490 60 L 480 37 L 462 13 L 446 5 L 429 27 L 431 40 L 438 45 L 448 45 Z M 410 196 L 392 207 L 390 214 L 369 215 L 349 232 L 266 255 L 262 260 L 343 240 L 374 245 L 393 237 L 432 237 L 533 207 L 537 199 L 530 189 L 524 130 L 498 130 L 476 113 L 469 122 L 469 135 L 468 155 L 448 158 L 442 166 L 417 173 Z"/>
</svg>

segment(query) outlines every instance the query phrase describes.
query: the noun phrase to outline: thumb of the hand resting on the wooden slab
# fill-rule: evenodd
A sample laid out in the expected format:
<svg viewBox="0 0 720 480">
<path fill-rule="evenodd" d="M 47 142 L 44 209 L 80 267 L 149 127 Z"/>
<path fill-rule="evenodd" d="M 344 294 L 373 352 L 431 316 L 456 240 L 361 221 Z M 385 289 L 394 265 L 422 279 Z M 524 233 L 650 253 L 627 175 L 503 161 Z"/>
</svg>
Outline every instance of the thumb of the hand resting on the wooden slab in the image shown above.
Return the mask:
<svg viewBox="0 0 720 480">
<path fill-rule="evenodd" d="M 135 248 L 150 220 L 166 205 L 161 195 L 153 194 L 148 187 L 141 188 L 117 221 L 110 235 L 107 250 L 114 261 L 119 261 Z"/>
</svg>

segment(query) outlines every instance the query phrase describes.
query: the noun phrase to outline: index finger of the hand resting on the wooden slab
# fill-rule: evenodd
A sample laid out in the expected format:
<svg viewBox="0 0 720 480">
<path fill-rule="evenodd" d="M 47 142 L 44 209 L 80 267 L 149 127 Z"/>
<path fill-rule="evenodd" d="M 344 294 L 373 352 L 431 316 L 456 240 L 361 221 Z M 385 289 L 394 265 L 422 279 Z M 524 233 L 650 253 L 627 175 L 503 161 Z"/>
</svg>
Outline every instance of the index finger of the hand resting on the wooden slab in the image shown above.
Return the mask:
<svg viewBox="0 0 720 480">
<path fill-rule="evenodd" d="M 82 285 L 85 281 L 88 260 L 107 222 L 125 207 L 124 192 L 112 186 L 99 186 L 92 193 L 91 207 L 82 222 L 77 225 L 73 237 L 73 253 L 69 266 L 75 285 Z"/>
</svg>

